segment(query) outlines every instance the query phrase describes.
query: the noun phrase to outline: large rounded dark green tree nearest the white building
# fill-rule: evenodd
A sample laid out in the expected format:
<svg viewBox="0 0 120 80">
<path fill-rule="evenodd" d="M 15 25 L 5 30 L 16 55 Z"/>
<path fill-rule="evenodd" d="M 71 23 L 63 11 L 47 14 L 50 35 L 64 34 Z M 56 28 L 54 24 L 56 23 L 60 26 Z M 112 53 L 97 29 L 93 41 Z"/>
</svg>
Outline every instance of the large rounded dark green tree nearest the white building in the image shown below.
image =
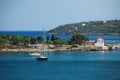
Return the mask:
<svg viewBox="0 0 120 80">
<path fill-rule="evenodd" d="M 81 34 L 75 34 L 72 36 L 72 38 L 68 41 L 69 44 L 79 44 L 81 45 L 82 43 L 85 43 L 89 39 Z"/>
</svg>

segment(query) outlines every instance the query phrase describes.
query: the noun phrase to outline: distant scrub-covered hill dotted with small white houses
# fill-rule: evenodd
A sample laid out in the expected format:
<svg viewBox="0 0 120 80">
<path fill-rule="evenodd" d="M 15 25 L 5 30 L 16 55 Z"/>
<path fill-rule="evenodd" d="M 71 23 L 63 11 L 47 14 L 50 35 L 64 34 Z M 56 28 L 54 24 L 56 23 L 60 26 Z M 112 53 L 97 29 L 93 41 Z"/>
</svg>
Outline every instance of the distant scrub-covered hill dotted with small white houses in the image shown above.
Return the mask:
<svg viewBox="0 0 120 80">
<path fill-rule="evenodd" d="M 120 20 L 89 21 L 60 25 L 50 31 L 51 34 L 109 34 L 120 35 Z"/>
</svg>

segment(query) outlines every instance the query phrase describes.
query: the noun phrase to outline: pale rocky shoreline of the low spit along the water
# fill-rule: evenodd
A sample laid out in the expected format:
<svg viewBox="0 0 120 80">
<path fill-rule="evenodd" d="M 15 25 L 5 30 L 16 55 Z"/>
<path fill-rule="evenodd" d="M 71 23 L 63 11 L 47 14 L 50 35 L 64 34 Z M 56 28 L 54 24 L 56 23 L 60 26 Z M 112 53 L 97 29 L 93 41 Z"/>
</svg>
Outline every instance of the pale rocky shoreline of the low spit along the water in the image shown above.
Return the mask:
<svg viewBox="0 0 120 80">
<path fill-rule="evenodd" d="M 45 51 L 107 51 L 107 50 L 114 50 L 116 48 L 120 48 L 120 44 L 107 44 L 108 49 L 102 49 L 101 47 L 94 47 L 94 46 L 83 46 L 77 45 L 77 47 L 72 47 L 71 45 L 64 45 L 56 47 L 50 47 L 51 45 L 45 45 Z M 16 49 L 1 49 L 0 52 L 41 52 L 42 49 L 40 48 L 16 48 Z"/>
</svg>

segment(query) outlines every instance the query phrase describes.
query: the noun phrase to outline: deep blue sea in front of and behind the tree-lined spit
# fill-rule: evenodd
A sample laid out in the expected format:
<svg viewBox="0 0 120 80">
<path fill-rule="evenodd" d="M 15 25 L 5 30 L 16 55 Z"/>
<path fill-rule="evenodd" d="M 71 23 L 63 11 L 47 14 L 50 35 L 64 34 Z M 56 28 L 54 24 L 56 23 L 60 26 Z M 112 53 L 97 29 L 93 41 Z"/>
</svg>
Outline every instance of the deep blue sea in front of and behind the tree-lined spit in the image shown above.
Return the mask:
<svg viewBox="0 0 120 80">
<path fill-rule="evenodd" d="M 39 31 L 1 31 L 0 34 L 36 37 Z M 47 34 L 48 35 L 48 34 Z M 71 35 L 56 35 L 70 39 Z M 87 35 L 96 40 L 99 35 Z M 120 36 L 102 35 L 107 43 Z M 48 61 L 37 61 L 28 52 L 0 52 L 0 80 L 120 80 L 120 49 L 113 51 L 47 52 Z"/>
</svg>

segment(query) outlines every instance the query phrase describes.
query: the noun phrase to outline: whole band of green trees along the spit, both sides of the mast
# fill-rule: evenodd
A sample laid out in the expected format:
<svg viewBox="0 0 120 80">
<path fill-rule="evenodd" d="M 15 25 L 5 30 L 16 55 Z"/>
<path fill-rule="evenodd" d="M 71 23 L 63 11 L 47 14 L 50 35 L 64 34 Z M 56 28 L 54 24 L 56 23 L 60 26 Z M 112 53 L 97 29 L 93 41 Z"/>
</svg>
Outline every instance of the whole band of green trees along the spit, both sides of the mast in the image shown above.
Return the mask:
<svg viewBox="0 0 120 80">
<path fill-rule="evenodd" d="M 66 41 L 63 39 L 60 39 L 54 35 L 51 36 L 51 39 L 47 37 L 46 44 L 54 44 L 57 46 L 62 45 L 73 45 L 73 44 L 79 44 L 86 42 L 88 38 L 81 34 L 75 34 L 73 37 Z M 29 37 L 29 36 L 19 36 L 19 35 L 13 35 L 10 36 L 8 34 L 2 34 L 0 36 L 0 49 L 14 49 L 14 48 L 27 48 L 29 44 L 37 44 L 42 43 L 44 41 L 43 36 L 38 37 Z"/>
</svg>

